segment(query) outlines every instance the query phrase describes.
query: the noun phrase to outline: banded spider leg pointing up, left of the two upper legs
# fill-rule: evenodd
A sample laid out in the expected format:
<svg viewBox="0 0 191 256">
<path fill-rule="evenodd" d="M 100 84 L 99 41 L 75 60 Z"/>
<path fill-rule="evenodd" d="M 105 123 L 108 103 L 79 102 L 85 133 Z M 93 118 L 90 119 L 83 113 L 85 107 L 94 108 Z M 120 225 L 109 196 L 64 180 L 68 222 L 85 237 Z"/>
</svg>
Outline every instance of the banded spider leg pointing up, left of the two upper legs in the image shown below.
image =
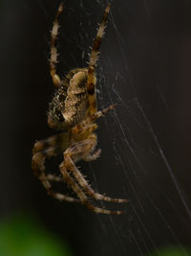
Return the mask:
<svg viewBox="0 0 191 256">
<path fill-rule="evenodd" d="M 57 63 L 57 49 L 54 46 L 55 42 L 57 40 L 58 35 L 58 17 L 60 13 L 63 11 L 64 5 L 61 3 L 58 7 L 57 13 L 55 15 L 55 20 L 53 22 L 53 30 L 51 32 L 51 59 L 50 59 L 50 73 L 53 79 L 53 84 L 55 87 L 59 87 L 62 84 L 62 81 L 60 80 L 60 77 L 56 74 L 56 63 Z"/>
</svg>

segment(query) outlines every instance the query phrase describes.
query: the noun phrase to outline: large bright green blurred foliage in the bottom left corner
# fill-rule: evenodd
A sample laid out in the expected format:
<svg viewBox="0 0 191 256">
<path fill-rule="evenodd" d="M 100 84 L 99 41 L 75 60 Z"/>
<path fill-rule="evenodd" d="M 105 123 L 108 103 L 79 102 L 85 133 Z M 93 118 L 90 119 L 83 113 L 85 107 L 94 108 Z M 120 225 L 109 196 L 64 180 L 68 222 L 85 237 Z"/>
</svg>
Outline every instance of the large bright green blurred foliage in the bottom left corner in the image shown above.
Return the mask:
<svg viewBox="0 0 191 256">
<path fill-rule="evenodd" d="M 65 242 L 27 215 L 0 222 L 0 256 L 72 256 Z"/>
</svg>

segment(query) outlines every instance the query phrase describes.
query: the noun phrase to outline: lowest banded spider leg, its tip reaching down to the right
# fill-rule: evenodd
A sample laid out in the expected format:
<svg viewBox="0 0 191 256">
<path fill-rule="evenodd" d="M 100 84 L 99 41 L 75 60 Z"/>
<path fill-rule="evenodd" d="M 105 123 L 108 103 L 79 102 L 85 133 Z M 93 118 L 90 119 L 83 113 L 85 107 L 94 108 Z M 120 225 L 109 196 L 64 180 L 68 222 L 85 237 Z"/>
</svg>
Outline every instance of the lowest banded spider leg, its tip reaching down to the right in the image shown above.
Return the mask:
<svg viewBox="0 0 191 256">
<path fill-rule="evenodd" d="M 94 206 L 89 199 L 86 197 L 86 195 L 83 193 L 83 191 L 80 189 L 80 187 L 76 184 L 76 182 L 74 181 L 74 178 L 69 175 L 69 173 L 67 172 L 67 169 L 65 167 L 65 162 L 62 162 L 62 164 L 60 165 L 60 172 L 62 173 L 64 180 L 71 186 L 71 188 L 74 190 L 74 192 L 76 193 L 77 197 L 80 198 L 82 204 L 85 204 L 86 207 L 95 212 L 95 213 L 102 213 L 102 214 L 114 214 L 114 215 L 121 215 L 124 214 L 125 212 L 123 211 L 111 211 L 111 210 L 106 210 L 103 208 L 99 208 Z"/>
</svg>

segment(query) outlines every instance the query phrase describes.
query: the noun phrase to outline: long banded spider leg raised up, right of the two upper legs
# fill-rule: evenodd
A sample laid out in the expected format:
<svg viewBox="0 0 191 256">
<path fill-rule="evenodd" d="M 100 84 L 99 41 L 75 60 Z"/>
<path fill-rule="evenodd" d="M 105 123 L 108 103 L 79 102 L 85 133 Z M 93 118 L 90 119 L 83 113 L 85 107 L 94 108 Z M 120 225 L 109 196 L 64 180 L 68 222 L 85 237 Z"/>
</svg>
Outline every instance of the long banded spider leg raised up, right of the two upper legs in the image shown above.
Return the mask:
<svg viewBox="0 0 191 256">
<path fill-rule="evenodd" d="M 101 38 L 104 35 L 104 30 L 106 27 L 106 20 L 108 13 L 110 12 L 110 4 L 106 7 L 105 12 L 103 14 L 102 22 L 99 25 L 99 28 L 96 33 L 96 38 L 94 41 L 90 62 L 89 62 L 89 68 L 88 68 L 88 81 L 87 81 L 87 92 L 88 92 L 88 101 L 89 101 L 89 111 L 90 115 L 96 113 L 96 90 L 95 90 L 95 84 L 96 84 L 96 62 L 98 60 L 98 50 L 101 43 Z"/>
</svg>

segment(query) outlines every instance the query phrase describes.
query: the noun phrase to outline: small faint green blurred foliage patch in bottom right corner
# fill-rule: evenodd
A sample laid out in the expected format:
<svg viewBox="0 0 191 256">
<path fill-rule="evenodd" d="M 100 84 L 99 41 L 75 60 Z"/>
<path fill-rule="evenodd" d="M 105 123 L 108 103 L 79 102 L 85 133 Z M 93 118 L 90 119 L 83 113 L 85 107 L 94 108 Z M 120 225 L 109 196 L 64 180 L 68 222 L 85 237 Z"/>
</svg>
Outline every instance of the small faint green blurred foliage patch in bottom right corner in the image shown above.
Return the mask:
<svg viewBox="0 0 191 256">
<path fill-rule="evenodd" d="M 191 250 L 179 247 L 166 247 L 159 250 L 159 253 L 152 256 L 191 256 Z"/>
</svg>

